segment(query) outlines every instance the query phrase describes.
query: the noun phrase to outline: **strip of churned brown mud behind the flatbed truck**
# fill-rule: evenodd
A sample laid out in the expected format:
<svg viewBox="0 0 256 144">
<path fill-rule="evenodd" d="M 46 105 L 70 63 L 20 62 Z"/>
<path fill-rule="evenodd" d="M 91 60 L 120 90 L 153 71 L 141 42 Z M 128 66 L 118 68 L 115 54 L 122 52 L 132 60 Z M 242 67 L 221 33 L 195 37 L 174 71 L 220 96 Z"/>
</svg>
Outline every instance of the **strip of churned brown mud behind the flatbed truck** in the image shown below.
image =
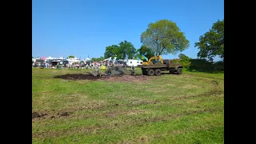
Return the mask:
<svg viewBox="0 0 256 144">
<path fill-rule="evenodd" d="M 148 76 L 142 74 L 135 75 L 114 75 L 114 76 L 106 76 L 106 77 L 94 77 L 90 74 L 65 74 L 58 75 L 54 78 L 62 78 L 69 80 L 98 80 L 98 81 L 108 81 L 108 82 L 142 82 L 149 79 Z"/>
</svg>

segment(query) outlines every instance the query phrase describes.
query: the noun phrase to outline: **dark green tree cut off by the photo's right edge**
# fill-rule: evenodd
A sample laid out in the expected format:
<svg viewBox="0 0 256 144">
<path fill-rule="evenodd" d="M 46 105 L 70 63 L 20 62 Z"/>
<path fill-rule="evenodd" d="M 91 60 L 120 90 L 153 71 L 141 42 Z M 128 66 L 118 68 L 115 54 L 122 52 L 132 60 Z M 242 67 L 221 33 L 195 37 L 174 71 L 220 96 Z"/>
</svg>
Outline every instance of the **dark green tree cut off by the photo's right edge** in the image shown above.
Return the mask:
<svg viewBox="0 0 256 144">
<path fill-rule="evenodd" d="M 208 58 L 213 61 L 214 57 L 220 56 L 224 61 L 224 19 L 214 22 L 211 29 L 201 35 L 199 42 L 194 43 L 198 47 L 198 58 Z"/>
</svg>

